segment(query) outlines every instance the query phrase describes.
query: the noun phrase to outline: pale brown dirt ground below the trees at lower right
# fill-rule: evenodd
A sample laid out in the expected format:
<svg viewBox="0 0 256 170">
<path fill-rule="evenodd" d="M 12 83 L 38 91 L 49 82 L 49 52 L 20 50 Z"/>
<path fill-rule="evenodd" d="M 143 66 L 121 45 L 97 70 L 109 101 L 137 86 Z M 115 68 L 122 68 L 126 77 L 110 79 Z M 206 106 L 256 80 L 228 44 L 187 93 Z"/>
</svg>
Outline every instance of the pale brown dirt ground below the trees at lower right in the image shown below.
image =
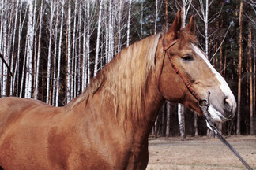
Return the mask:
<svg viewBox="0 0 256 170">
<path fill-rule="evenodd" d="M 225 139 L 256 170 L 256 135 L 231 136 Z M 163 169 L 235 170 L 247 168 L 217 138 L 149 139 L 147 170 Z"/>
</svg>

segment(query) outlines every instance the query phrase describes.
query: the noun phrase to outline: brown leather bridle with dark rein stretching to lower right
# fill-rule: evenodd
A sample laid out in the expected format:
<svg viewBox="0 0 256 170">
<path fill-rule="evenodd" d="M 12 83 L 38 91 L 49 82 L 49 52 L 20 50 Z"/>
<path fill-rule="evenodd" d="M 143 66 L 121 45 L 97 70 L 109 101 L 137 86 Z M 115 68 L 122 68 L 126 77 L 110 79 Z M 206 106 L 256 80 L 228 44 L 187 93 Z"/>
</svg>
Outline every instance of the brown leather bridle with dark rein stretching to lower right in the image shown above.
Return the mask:
<svg viewBox="0 0 256 170">
<path fill-rule="evenodd" d="M 166 46 L 165 43 L 164 43 L 164 38 L 163 38 L 163 42 L 162 43 L 163 43 L 164 58 L 165 58 L 165 55 L 167 54 L 168 58 L 169 58 L 169 60 L 171 62 L 172 68 L 175 70 L 176 74 L 178 74 L 180 76 L 180 78 L 183 79 L 183 83 L 185 84 L 186 88 L 190 91 L 190 94 L 192 94 L 194 96 L 194 98 L 198 101 L 198 105 L 200 106 L 201 111 L 202 111 L 203 115 L 205 116 L 207 127 L 209 127 L 209 129 L 213 131 L 213 133 L 218 137 L 218 139 L 220 139 L 220 141 L 223 142 L 224 145 L 227 146 L 228 149 L 231 150 L 232 153 L 234 153 L 237 158 L 239 158 L 239 161 L 241 161 L 248 170 L 253 170 L 250 167 L 250 165 L 247 164 L 246 161 L 244 161 L 243 157 L 241 157 L 239 155 L 239 153 L 226 141 L 226 139 L 224 139 L 223 136 L 220 135 L 220 132 L 217 131 L 216 127 L 213 125 L 213 122 L 209 118 L 209 116 L 208 116 L 209 115 L 208 108 L 209 108 L 209 95 L 210 95 L 210 92 L 208 91 L 208 98 L 206 98 L 206 99 L 205 98 L 201 98 L 198 95 L 198 93 L 194 90 L 194 88 L 191 87 L 190 82 L 183 76 L 183 74 L 181 72 L 179 72 L 179 69 L 176 67 L 175 62 L 172 60 L 170 54 L 167 53 L 167 50 L 170 49 L 171 46 L 174 46 L 177 42 L 178 42 L 178 40 L 175 39 L 168 46 Z M 163 67 L 164 67 L 164 58 L 163 58 L 163 62 L 162 62 L 161 70 L 160 70 L 158 87 L 160 87 L 160 77 L 161 77 L 161 74 L 162 74 L 162 71 L 163 71 Z"/>
</svg>

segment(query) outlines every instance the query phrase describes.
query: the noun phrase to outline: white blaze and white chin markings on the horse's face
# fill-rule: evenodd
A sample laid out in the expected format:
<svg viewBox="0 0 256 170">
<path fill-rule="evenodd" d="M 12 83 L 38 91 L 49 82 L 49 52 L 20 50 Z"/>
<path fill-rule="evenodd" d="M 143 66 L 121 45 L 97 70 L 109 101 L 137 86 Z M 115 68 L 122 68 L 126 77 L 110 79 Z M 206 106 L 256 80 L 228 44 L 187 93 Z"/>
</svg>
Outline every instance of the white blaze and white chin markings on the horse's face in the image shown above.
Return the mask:
<svg viewBox="0 0 256 170">
<path fill-rule="evenodd" d="M 211 68 L 212 72 L 216 76 L 216 79 L 220 82 L 220 90 L 223 92 L 224 96 L 228 98 L 228 101 L 231 102 L 234 107 L 236 107 L 235 97 L 230 88 L 228 87 L 228 83 L 224 80 L 222 76 L 220 76 L 220 73 L 217 72 L 215 68 L 213 68 L 213 65 L 210 64 L 210 62 L 205 57 L 205 54 L 201 52 L 198 46 L 192 44 L 192 49 L 196 54 L 198 54 L 198 56 L 200 56 L 205 61 L 209 68 Z M 233 112 L 235 112 L 235 109 L 233 109 Z M 213 105 L 209 106 L 209 113 L 213 120 L 221 121 L 226 119 L 219 111 L 214 109 Z"/>
</svg>

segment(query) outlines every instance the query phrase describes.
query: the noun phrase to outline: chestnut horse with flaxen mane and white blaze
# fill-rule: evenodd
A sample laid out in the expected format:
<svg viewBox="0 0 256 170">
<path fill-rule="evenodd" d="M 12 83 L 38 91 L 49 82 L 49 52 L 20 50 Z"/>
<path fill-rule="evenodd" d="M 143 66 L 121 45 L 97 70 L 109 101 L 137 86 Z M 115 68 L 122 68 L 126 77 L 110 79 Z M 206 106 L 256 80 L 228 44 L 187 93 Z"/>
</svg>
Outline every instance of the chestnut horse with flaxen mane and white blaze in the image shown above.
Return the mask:
<svg viewBox="0 0 256 170">
<path fill-rule="evenodd" d="M 201 115 L 198 101 L 164 59 L 164 44 L 171 44 L 166 53 L 198 95 L 211 92 L 211 119 L 232 119 L 236 102 L 228 83 L 198 48 L 194 17 L 185 28 L 181 18 L 178 11 L 168 31 L 123 49 L 66 106 L 1 98 L 1 167 L 145 169 L 149 133 L 165 100 Z"/>
</svg>

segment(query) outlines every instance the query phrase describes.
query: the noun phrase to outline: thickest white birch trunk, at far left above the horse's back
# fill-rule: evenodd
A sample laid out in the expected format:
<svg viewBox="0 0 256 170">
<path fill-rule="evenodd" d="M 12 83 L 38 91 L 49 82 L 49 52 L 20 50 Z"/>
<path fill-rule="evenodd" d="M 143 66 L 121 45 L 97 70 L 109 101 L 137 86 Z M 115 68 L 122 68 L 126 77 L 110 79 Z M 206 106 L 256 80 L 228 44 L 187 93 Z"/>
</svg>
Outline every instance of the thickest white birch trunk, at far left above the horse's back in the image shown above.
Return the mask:
<svg viewBox="0 0 256 170">
<path fill-rule="evenodd" d="M 34 4 L 32 0 L 28 0 L 28 31 L 27 31 L 27 62 L 26 62 L 26 82 L 24 98 L 32 97 L 32 66 L 33 66 L 33 44 L 34 44 L 34 28 L 33 28 L 33 9 Z"/>
</svg>

